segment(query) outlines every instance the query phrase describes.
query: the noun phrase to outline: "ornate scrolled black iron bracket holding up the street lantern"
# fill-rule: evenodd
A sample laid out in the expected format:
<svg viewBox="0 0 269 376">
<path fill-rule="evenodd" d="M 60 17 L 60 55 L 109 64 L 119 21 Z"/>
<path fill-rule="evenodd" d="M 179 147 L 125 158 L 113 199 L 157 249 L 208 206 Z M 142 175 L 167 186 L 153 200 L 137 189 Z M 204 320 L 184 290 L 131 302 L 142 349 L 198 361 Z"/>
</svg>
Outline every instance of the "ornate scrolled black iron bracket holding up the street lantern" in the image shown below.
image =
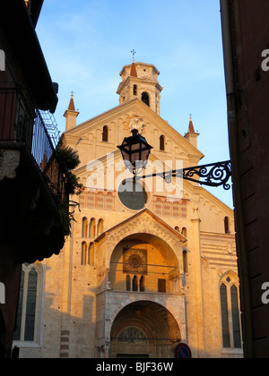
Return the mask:
<svg viewBox="0 0 269 376">
<path fill-rule="evenodd" d="M 165 171 L 152 175 L 136 175 L 136 181 L 154 176 L 162 177 L 167 184 L 170 184 L 172 182 L 173 177 L 179 177 L 191 182 L 211 187 L 218 187 L 222 185 L 225 191 L 229 191 L 230 184 L 228 184 L 228 181 L 231 177 L 231 163 L 230 160 L 228 160 L 225 162 L 217 162 L 204 166 Z"/>
</svg>

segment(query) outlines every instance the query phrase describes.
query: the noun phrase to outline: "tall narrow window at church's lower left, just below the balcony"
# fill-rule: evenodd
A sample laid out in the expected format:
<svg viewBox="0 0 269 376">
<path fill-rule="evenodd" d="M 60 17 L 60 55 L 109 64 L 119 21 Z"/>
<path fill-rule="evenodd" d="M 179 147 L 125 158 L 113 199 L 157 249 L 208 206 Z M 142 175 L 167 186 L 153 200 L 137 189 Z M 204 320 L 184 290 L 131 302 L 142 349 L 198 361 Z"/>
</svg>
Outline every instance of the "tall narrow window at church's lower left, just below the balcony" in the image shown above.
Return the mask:
<svg viewBox="0 0 269 376">
<path fill-rule="evenodd" d="M 41 265 L 22 265 L 22 277 L 19 291 L 18 312 L 14 341 L 39 342 L 39 318 L 41 299 Z"/>
</svg>

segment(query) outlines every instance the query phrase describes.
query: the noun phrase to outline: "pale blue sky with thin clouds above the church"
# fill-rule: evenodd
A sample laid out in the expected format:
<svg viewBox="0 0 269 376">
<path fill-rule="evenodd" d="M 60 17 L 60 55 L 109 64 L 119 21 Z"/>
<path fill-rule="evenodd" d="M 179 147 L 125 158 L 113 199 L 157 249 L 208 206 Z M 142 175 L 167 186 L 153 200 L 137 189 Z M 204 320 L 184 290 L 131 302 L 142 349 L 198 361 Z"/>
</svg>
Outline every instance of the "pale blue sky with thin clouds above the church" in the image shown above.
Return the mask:
<svg viewBox="0 0 269 376">
<path fill-rule="evenodd" d="M 78 123 L 118 105 L 134 48 L 161 73 L 161 117 L 184 134 L 193 115 L 201 164 L 230 159 L 218 0 L 45 0 L 37 33 L 59 84 L 61 132 L 72 90 Z M 232 207 L 231 191 L 209 191 Z"/>
</svg>

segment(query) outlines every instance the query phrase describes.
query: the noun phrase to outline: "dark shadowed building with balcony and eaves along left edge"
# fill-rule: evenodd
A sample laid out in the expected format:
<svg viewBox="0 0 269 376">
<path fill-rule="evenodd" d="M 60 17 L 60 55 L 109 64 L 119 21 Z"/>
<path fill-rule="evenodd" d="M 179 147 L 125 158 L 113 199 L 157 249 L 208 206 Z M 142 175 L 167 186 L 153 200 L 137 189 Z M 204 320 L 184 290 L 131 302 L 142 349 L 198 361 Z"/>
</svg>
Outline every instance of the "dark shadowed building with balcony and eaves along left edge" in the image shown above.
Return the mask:
<svg viewBox="0 0 269 376">
<path fill-rule="evenodd" d="M 72 191 L 56 157 L 57 85 L 35 31 L 42 0 L 0 10 L 0 358 L 11 356 L 23 262 L 63 248 Z"/>
</svg>

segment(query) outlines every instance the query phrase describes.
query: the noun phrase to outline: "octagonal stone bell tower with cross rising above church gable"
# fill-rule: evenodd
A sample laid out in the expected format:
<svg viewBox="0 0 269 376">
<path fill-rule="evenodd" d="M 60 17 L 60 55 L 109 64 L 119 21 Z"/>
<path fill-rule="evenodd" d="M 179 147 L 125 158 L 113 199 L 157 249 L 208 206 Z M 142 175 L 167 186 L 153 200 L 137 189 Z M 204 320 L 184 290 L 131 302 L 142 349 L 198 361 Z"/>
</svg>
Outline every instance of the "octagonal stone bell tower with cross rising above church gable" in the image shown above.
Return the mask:
<svg viewBox="0 0 269 376">
<path fill-rule="evenodd" d="M 157 115 L 160 115 L 160 99 L 163 88 L 158 81 L 159 74 L 160 72 L 154 65 L 135 63 L 133 58 L 133 63 L 125 65 L 119 73 L 122 78 L 117 88 L 120 105 L 128 100 L 138 98 L 152 108 Z"/>
</svg>

